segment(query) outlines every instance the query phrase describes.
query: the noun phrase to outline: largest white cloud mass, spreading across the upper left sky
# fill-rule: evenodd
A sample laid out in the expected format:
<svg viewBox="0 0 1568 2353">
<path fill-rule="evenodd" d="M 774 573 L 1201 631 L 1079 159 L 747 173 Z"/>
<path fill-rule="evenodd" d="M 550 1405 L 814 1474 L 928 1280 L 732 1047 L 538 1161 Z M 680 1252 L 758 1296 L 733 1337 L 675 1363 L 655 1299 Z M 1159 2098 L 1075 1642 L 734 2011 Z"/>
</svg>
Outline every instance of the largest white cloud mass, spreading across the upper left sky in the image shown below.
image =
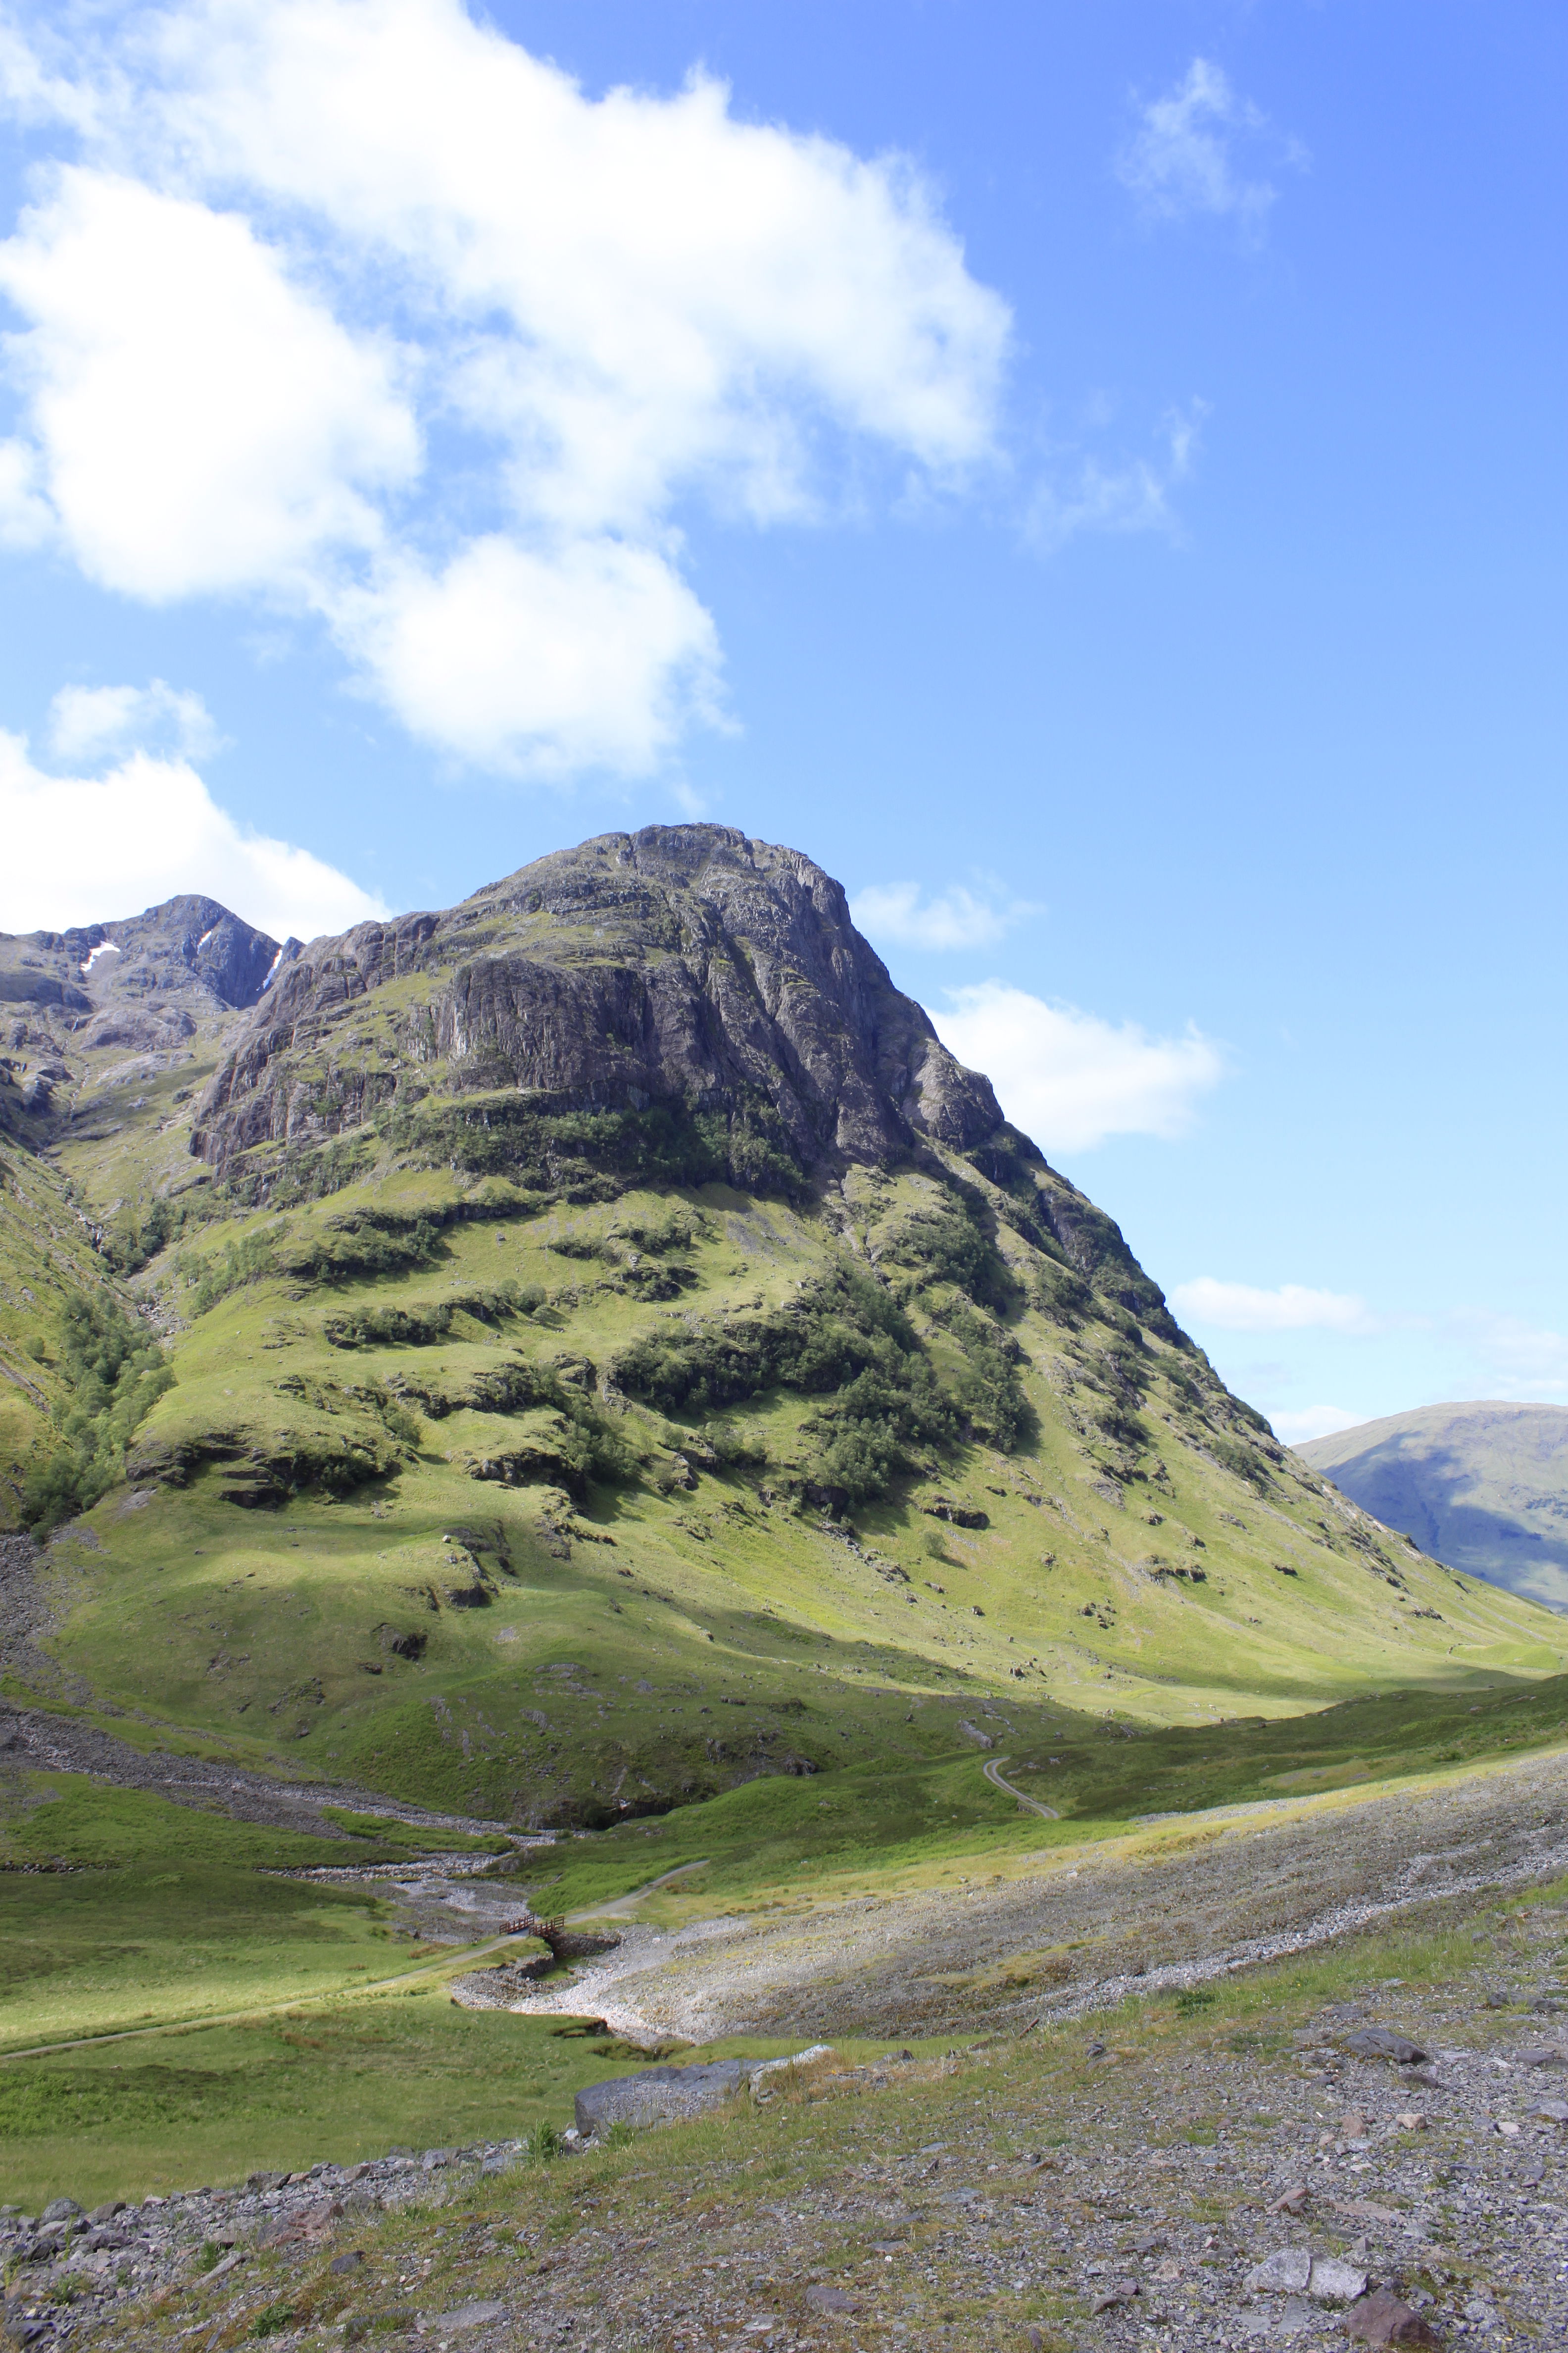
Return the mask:
<svg viewBox="0 0 1568 2353">
<path fill-rule="evenodd" d="M 703 75 L 588 99 L 461 0 L 92 21 L 0 61 L 78 139 L 0 247 L 0 522 L 320 616 L 461 760 L 630 774 L 715 715 L 682 499 L 809 520 L 851 445 L 994 456 L 1009 311 L 896 158 Z"/>
</svg>

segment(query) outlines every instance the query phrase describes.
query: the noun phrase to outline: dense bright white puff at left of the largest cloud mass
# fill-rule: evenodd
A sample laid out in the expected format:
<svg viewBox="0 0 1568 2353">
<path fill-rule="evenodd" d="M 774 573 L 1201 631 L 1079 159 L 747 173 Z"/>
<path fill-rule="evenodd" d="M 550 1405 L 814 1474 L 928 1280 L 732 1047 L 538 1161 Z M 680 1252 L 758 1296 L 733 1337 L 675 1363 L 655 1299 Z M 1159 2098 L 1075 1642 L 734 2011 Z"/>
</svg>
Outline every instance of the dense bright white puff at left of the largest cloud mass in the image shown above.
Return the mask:
<svg viewBox="0 0 1568 2353">
<path fill-rule="evenodd" d="M 374 548 L 371 492 L 418 433 L 381 351 L 289 285 L 240 219 L 115 172 L 61 169 L 0 245 L 7 336 L 59 541 L 148 602 L 299 591 Z"/>
</svg>

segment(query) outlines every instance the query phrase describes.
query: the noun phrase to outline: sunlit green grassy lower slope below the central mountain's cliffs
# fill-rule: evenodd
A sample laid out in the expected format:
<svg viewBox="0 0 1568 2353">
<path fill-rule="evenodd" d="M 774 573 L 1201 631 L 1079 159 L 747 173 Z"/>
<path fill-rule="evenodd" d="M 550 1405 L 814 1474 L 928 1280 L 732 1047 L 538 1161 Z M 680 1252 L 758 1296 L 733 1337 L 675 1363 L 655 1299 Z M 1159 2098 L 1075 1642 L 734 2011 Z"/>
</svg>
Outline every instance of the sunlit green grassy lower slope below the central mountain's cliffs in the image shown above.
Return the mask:
<svg viewBox="0 0 1568 2353">
<path fill-rule="evenodd" d="M 903 1313 L 938 1405 L 976 1379 L 954 1322 L 1020 1351 L 1009 1452 L 914 1440 L 835 1508 L 842 1386 L 693 1402 L 940 1212 L 914 1172 L 851 1172 L 830 1212 L 724 1186 L 569 1207 L 388 1167 L 216 1219 L 134 1278 L 176 1386 L 54 1544 L 54 1652 L 235 1758 L 524 1821 L 952 1753 L 987 1694 L 1020 1725 L 1182 1722 L 1563 1664 L 1552 1619 L 1218 1431 L 1192 1351 L 1098 1301 L 1067 1315 L 1004 1226 L 1004 1318 L 919 1264 Z M 421 1226 L 402 1271 L 331 1266 Z M 853 1315 L 818 1322 L 865 1339 Z"/>
</svg>

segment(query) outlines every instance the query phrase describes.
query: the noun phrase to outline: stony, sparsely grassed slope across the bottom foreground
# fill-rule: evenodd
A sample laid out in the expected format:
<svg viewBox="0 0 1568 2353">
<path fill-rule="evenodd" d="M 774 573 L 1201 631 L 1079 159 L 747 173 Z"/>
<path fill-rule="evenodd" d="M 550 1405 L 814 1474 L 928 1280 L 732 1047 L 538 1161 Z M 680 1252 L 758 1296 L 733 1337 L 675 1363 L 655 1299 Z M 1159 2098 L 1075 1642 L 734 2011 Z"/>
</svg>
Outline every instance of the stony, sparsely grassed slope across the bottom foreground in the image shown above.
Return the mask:
<svg viewBox="0 0 1568 2353">
<path fill-rule="evenodd" d="M 7 2325 L 127 2353 L 1561 2346 L 1566 1897 L 961 2049 L 825 2052 L 581 2153 L 9 2214 Z"/>
</svg>

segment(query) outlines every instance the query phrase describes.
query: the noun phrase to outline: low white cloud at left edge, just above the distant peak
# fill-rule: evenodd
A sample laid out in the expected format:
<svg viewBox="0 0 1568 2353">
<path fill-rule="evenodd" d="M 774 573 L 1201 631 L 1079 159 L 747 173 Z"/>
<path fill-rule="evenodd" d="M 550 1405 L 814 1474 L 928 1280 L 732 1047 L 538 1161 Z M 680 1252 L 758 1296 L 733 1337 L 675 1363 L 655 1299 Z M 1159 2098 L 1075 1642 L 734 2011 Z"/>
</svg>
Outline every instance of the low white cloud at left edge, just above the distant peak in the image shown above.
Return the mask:
<svg viewBox="0 0 1568 2353">
<path fill-rule="evenodd" d="M 0 840 L 7 932 L 108 922 L 176 892 L 207 892 L 273 939 L 386 915 L 308 849 L 237 826 L 188 760 L 143 751 L 103 776 L 47 776 L 0 732 Z"/>
</svg>

